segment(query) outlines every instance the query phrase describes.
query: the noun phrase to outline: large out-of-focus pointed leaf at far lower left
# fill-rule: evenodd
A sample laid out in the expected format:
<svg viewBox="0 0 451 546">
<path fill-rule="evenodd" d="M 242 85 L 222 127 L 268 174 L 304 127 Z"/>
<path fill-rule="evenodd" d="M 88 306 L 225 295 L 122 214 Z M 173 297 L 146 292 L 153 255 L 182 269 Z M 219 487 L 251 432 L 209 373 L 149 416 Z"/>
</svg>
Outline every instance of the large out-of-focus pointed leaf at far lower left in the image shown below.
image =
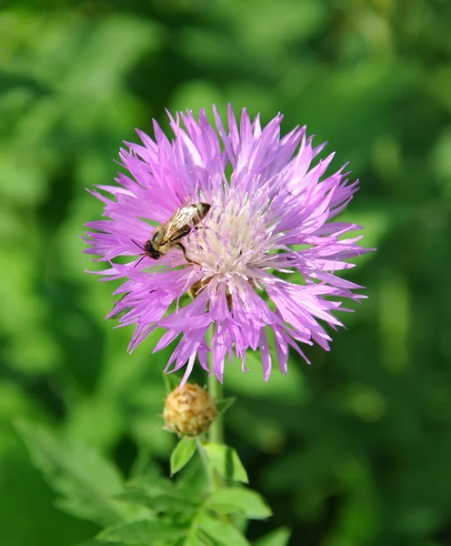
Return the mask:
<svg viewBox="0 0 451 546">
<path fill-rule="evenodd" d="M 100 525 L 120 521 L 120 505 L 112 499 L 123 490 L 122 478 L 109 460 L 82 444 L 66 442 L 50 431 L 20 422 L 17 429 L 35 466 L 62 498 L 58 507 Z"/>
</svg>

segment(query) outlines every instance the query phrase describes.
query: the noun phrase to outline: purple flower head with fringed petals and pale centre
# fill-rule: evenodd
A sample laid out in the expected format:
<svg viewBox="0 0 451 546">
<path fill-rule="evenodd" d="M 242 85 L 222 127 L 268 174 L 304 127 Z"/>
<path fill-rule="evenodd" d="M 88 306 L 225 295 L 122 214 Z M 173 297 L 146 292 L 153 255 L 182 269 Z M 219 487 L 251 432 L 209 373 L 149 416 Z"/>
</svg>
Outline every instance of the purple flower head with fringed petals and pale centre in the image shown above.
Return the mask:
<svg viewBox="0 0 451 546">
<path fill-rule="evenodd" d="M 268 379 L 275 355 L 286 373 L 289 347 L 304 359 L 299 343 L 329 349 L 324 325 L 343 326 L 333 313 L 347 310 L 340 300 L 363 298 L 353 292 L 362 287 L 336 277 L 354 267 L 347 258 L 368 251 L 356 244 L 361 237 L 348 235 L 360 227 L 331 221 L 357 182 L 348 183 L 344 167 L 325 176 L 334 154 L 311 167 L 324 145 L 312 147 L 306 127 L 281 137 L 281 115 L 262 129 L 246 110 L 238 126 L 229 106 L 227 131 L 214 112 L 216 127 L 204 110 L 198 121 L 189 111 L 170 116 L 172 141 L 156 122 L 155 140 L 138 131 L 144 146 L 127 143 L 120 153 L 131 177 L 119 173 L 118 186 L 98 186 L 112 197 L 91 192 L 108 219 L 86 225 L 85 252 L 109 263 L 100 275 L 125 279 L 108 317 L 121 313 L 122 325 L 135 324 L 130 350 L 162 328 L 155 351 L 181 336 L 166 371 L 186 365 L 183 382 L 196 356 L 209 370 L 208 351 L 219 380 L 234 352 L 245 370 L 247 349 L 260 350 Z M 206 214 L 194 214 L 202 203 L 210 206 Z M 155 259 L 155 230 L 175 213 L 187 221 L 177 220 L 178 231 L 166 225 L 169 244 Z M 132 258 L 120 265 L 118 256 Z"/>
</svg>

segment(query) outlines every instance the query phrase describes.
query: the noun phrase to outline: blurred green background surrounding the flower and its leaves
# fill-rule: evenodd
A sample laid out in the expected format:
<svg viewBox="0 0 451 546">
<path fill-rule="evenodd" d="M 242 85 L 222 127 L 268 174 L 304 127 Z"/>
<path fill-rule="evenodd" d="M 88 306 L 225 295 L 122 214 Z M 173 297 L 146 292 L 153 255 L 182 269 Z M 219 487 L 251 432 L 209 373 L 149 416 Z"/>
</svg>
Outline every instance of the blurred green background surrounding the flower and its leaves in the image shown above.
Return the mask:
<svg viewBox="0 0 451 546">
<path fill-rule="evenodd" d="M 103 318 L 84 273 L 85 187 L 115 177 L 165 107 L 307 124 L 362 189 L 346 218 L 377 247 L 347 275 L 369 299 L 330 353 L 265 384 L 226 369 L 227 440 L 304 546 L 451 544 L 451 3 L 446 0 L 15 0 L 0 6 L 0 543 L 71 546 L 95 525 L 55 508 L 15 421 L 167 471 L 170 351 Z M 202 383 L 205 378 L 200 374 Z"/>
</svg>

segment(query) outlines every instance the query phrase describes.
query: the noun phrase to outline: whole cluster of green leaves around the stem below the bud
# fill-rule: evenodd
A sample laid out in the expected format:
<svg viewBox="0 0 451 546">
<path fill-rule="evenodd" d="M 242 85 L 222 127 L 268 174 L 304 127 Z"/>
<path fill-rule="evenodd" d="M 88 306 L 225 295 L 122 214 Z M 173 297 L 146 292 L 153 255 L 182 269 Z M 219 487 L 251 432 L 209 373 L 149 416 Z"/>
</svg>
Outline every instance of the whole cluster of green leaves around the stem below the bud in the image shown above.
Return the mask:
<svg viewBox="0 0 451 546">
<path fill-rule="evenodd" d="M 205 540 L 213 544 L 226 541 L 248 544 L 228 516 L 240 514 L 246 519 L 265 519 L 271 515 L 256 491 L 224 485 L 218 489 L 217 481 L 215 490 L 210 490 L 210 482 L 199 480 L 196 474 L 188 478 L 188 485 L 197 482 L 201 494 L 193 492 L 193 487 L 189 487 L 187 494 L 186 482 L 184 488 L 183 482 L 180 486 L 165 480 L 151 469 L 125 485 L 118 470 L 97 451 L 74 441 L 61 440 L 49 430 L 36 429 L 25 422 L 21 422 L 18 429 L 35 465 L 43 471 L 50 486 L 62 495 L 57 501 L 58 507 L 105 527 L 96 537 L 105 544 L 169 546 L 179 540 L 184 544 Z M 204 471 L 209 477 L 215 470 L 224 472 L 224 463 L 218 463 L 222 460 L 218 453 L 227 451 L 233 461 L 227 477 L 242 480 L 243 472 L 246 475 L 235 451 L 222 445 L 202 446 L 198 441 L 186 439 L 180 440 L 173 451 L 173 473 L 193 457 L 196 445 L 211 457 L 211 462 L 204 459 Z"/>
</svg>

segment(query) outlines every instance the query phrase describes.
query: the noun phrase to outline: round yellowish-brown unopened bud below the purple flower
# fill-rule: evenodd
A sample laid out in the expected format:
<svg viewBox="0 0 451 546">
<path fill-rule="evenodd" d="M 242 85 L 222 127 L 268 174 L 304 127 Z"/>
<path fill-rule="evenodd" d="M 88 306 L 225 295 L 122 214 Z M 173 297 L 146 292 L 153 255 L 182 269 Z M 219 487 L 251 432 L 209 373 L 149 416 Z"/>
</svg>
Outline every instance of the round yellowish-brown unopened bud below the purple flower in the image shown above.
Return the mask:
<svg viewBox="0 0 451 546">
<path fill-rule="evenodd" d="M 165 399 L 163 418 L 167 430 L 179 436 L 199 436 L 216 419 L 215 401 L 202 387 L 186 383 Z"/>
</svg>

